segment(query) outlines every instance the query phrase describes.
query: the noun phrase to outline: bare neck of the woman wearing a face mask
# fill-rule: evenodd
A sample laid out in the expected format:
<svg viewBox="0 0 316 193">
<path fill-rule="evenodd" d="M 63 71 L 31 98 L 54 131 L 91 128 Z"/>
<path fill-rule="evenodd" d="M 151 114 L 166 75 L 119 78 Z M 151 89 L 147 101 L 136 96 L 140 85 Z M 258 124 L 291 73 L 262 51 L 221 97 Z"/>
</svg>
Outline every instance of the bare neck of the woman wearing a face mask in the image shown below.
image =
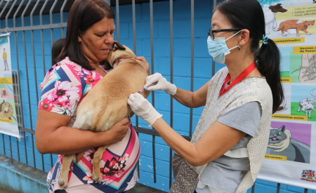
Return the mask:
<svg viewBox="0 0 316 193">
<path fill-rule="evenodd" d="M 249 67 L 251 63 L 254 62 L 254 58 L 245 57 L 245 58 L 236 58 L 233 61 L 228 61 L 226 66 L 228 68 L 228 72 L 230 73 L 230 82 L 234 81 L 239 74 L 241 74 L 246 67 Z M 248 76 L 246 76 L 247 78 Z"/>
</svg>

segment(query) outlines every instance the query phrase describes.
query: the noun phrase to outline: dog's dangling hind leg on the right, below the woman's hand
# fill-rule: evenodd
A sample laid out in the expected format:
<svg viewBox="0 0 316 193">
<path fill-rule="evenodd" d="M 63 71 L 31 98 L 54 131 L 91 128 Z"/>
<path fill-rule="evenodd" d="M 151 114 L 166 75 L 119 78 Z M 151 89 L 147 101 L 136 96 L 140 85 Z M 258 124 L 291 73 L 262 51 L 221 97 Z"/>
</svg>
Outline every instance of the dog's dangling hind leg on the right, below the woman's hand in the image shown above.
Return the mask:
<svg viewBox="0 0 316 193">
<path fill-rule="evenodd" d="M 93 171 L 92 171 L 92 179 L 99 184 L 103 180 L 102 173 L 100 172 L 100 161 L 103 156 L 103 152 L 107 149 L 109 145 L 98 147 L 96 153 L 93 154 Z"/>
</svg>

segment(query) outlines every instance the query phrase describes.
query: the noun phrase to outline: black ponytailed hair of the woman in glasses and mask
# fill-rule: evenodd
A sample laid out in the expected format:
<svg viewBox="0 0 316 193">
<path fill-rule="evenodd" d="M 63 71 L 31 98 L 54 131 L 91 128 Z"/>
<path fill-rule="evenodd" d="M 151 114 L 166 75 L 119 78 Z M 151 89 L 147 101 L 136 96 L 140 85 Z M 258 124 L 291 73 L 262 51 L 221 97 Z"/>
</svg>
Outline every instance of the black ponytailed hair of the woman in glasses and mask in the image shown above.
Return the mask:
<svg viewBox="0 0 316 193">
<path fill-rule="evenodd" d="M 280 80 L 280 53 L 279 48 L 271 39 L 268 44 L 259 41 L 265 35 L 265 16 L 263 9 L 256 0 L 229 0 L 223 1 L 216 8 L 223 13 L 233 28 L 248 29 L 251 38 L 251 53 L 254 54 L 256 67 L 265 76 L 273 96 L 272 112 L 275 113 L 284 100 L 283 88 Z"/>
</svg>

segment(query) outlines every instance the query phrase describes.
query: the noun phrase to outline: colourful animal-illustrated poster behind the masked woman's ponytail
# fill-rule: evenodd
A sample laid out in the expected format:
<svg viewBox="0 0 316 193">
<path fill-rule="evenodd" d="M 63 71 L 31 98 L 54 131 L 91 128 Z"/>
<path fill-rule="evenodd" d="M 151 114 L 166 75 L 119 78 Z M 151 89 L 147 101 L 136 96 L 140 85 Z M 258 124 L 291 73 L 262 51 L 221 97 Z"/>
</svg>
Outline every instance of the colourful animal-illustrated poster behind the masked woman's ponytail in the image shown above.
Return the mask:
<svg viewBox="0 0 316 193">
<path fill-rule="evenodd" d="M 316 189 L 316 1 L 258 0 L 282 55 L 285 101 L 272 114 L 261 180 Z"/>
</svg>

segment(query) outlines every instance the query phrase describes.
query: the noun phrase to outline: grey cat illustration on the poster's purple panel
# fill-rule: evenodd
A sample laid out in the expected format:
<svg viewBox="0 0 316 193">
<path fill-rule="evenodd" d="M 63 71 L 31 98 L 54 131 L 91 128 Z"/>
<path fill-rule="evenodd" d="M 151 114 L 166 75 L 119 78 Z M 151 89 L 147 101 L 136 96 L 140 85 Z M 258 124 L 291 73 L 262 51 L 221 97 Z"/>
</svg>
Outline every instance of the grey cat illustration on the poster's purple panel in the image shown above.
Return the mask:
<svg viewBox="0 0 316 193">
<path fill-rule="evenodd" d="M 270 128 L 270 137 L 266 154 L 287 157 L 287 161 L 310 163 L 310 146 L 291 138 L 285 126 Z"/>
</svg>

